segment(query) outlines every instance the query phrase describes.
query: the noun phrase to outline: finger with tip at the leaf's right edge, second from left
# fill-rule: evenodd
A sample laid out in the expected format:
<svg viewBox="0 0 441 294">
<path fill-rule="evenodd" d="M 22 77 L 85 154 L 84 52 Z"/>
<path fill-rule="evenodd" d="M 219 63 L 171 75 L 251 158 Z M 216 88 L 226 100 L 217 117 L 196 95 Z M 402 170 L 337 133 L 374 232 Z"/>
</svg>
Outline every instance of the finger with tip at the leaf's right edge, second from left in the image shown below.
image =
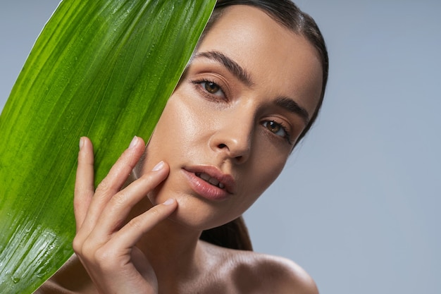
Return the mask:
<svg viewBox="0 0 441 294">
<path fill-rule="evenodd" d="M 144 140 L 134 137 L 128 149 L 125 149 L 120 158 L 113 164 L 104 180 L 99 183 L 90 202 L 85 221 L 82 223 L 85 234 L 92 231 L 97 219 L 106 207 L 107 202 L 115 195 L 125 183 L 130 172 L 144 152 Z"/>
</svg>

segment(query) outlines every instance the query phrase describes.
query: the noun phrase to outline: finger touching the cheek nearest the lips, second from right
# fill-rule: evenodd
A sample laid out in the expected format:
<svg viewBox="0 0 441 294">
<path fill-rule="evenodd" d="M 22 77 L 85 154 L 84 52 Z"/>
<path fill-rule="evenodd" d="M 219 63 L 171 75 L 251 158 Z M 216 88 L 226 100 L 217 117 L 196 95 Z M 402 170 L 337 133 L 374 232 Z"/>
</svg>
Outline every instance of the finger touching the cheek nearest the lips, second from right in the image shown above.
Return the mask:
<svg viewBox="0 0 441 294">
<path fill-rule="evenodd" d="M 89 240 L 106 240 L 125 223 L 132 208 L 168 176 L 169 167 L 163 161 L 153 171 L 145 173 L 114 195 L 99 216 Z"/>
</svg>

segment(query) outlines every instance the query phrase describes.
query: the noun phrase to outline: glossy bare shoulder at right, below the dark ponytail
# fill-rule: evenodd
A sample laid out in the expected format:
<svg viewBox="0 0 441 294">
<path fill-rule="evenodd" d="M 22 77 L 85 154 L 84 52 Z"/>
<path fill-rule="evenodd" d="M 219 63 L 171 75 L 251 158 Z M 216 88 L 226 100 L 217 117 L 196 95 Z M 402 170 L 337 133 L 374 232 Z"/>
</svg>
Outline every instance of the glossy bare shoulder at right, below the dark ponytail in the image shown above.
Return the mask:
<svg viewBox="0 0 441 294">
<path fill-rule="evenodd" d="M 221 268 L 228 268 L 228 279 L 238 293 L 318 294 L 311 276 L 290 259 L 221 247 L 218 250 L 223 255 Z"/>
</svg>

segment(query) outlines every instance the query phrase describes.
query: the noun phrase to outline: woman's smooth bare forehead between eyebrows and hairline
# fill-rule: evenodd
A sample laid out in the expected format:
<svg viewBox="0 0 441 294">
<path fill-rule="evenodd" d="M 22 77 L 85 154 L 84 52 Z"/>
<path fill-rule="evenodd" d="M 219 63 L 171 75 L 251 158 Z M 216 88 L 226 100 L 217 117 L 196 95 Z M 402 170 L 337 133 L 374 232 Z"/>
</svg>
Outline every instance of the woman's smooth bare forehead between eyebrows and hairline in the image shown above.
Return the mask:
<svg viewBox="0 0 441 294">
<path fill-rule="evenodd" d="M 243 5 L 225 8 L 195 56 L 213 52 L 235 61 L 254 84 L 285 91 L 281 94 L 295 92 L 305 100 L 301 103 L 306 109 L 315 109 L 322 80 L 316 49 L 261 9 Z"/>
</svg>

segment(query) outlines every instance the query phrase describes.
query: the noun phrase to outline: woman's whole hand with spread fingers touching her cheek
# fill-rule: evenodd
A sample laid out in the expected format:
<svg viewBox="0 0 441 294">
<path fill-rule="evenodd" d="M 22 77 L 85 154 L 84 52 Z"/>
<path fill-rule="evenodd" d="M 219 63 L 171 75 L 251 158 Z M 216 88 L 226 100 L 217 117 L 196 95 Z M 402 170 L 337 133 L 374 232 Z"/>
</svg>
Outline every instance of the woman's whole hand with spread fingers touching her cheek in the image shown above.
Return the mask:
<svg viewBox="0 0 441 294">
<path fill-rule="evenodd" d="M 87 137 L 80 140 L 74 210 L 77 233 L 73 250 L 99 293 L 158 293 L 154 270 L 135 244 L 144 233 L 178 207 L 170 199 L 127 222 L 132 207 L 167 178 L 169 167 L 159 163 L 152 171 L 123 187 L 144 152 L 135 137 L 111 171 L 94 190 L 94 154 Z"/>
</svg>

